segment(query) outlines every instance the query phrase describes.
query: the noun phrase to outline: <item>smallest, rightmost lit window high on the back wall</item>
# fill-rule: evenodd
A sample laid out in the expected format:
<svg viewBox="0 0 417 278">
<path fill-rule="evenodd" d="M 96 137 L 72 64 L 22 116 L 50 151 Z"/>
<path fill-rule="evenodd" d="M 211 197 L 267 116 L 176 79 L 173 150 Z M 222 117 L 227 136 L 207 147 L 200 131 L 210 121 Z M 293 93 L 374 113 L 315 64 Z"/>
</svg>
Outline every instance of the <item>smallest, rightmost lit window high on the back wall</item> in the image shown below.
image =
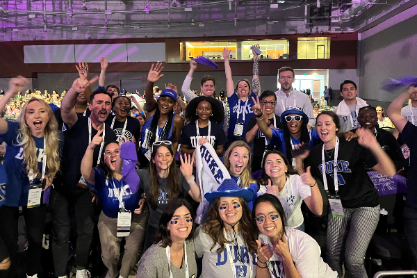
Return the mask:
<svg viewBox="0 0 417 278">
<path fill-rule="evenodd" d="M 298 59 L 329 59 L 330 38 L 298 38 Z"/>
</svg>

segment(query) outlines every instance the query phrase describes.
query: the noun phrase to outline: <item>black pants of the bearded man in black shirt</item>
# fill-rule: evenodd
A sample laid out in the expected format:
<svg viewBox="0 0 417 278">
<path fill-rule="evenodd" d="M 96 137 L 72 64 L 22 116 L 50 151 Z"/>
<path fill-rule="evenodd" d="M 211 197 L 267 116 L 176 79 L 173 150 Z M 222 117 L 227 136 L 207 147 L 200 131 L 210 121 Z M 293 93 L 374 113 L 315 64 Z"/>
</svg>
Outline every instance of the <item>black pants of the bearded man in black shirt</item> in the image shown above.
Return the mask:
<svg viewBox="0 0 417 278">
<path fill-rule="evenodd" d="M 68 239 L 70 238 L 71 215 L 70 209 L 74 206 L 76 218 L 76 265 L 82 270 L 88 267 L 88 255 L 94 223 L 94 203 L 88 190 L 78 196 L 65 196 L 57 190 L 51 190 L 49 205 L 52 213 L 52 254 L 57 276 L 67 274 Z"/>
</svg>

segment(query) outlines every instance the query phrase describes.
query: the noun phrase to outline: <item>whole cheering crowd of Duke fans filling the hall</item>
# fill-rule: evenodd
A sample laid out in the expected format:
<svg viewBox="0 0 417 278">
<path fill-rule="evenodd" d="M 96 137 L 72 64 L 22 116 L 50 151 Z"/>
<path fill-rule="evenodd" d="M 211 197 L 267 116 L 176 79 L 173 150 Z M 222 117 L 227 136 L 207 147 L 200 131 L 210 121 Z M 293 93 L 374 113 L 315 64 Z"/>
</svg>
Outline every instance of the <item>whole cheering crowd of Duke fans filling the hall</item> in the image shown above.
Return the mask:
<svg viewBox="0 0 417 278">
<path fill-rule="evenodd" d="M 367 277 L 363 257 L 380 213 L 368 172 L 393 177 L 404 167 L 404 230 L 416 270 L 417 88 L 386 117 L 345 80 L 340 104 L 319 113 L 293 89 L 291 67 L 279 69 L 279 90 L 262 92 L 256 51 L 252 81 L 235 85 L 229 52 L 217 99 L 212 76 L 202 76 L 200 93 L 190 90 L 194 60 L 181 92 L 174 83 L 156 87 L 162 63 L 152 65 L 142 95 L 105 87 L 105 58 L 93 78 L 79 63 L 61 96 L 23 96 L 28 80 L 11 79 L 0 98 L 0 109 L 17 116 L 0 118 L 0 277 L 17 277 L 20 267 L 19 207 L 27 277 L 42 276 L 47 213 L 56 277 L 70 275 L 69 241 L 76 278 L 90 277 L 95 227 L 106 278 Z M 306 211 L 328 219 L 326 250 L 306 229 Z"/>
</svg>

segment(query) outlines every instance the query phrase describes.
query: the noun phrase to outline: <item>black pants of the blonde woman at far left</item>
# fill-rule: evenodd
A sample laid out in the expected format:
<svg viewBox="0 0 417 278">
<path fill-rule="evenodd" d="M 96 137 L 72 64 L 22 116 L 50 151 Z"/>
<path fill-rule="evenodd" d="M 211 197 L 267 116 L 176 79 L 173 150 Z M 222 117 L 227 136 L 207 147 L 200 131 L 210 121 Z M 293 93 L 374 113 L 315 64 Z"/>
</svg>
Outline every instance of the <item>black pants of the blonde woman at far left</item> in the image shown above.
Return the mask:
<svg viewBox="0 0 417 278">
<path fill-rule="evenodd" d="M 24 221 L 28 230 L 28 268 L 27 274 L 29 276 L 39 274 L 42 272 L 40 261 L 42 259 L 42 238 L 45 225 L 45 216 L 47 213 L 47 206 L 41 205 L 35 208 L 23 207 Z M 18 220 L 19 207 L 18 206 L 1 206 L 0 208 L 0 237 L 6 245 L 8 254 L 10 255 L 10 269 L 9 275 L 17 273 L 17 261 L 15 255 L 17 254 L 17 240 L 18 240 Z"/>
</svg>

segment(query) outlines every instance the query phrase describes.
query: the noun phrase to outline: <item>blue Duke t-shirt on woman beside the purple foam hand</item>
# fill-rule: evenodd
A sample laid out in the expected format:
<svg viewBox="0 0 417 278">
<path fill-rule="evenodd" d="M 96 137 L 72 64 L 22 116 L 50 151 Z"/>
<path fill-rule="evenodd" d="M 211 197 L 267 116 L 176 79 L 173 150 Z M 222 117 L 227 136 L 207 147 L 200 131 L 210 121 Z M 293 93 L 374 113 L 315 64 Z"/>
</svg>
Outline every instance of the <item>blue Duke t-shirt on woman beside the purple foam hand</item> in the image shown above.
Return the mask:
<svg viewBox="0 0 417 278">
<path fill-rule="evenodd" d="M 90 190 L 97 192 L 100 197 L 103 212 L 109 218 L 117 218 L 119 212 L 119 195 L 120 188 L 123 185 L 123 202 L 126 210 L 133 211 L 139 208 L 140 193 L 138 192 L 139 184 L 131 185 L 126 183 L 123 179 L 106 179 L 101 170 L 94 169 L 95 180 L 94 184 L 88 184 Z"/>
</svg>

